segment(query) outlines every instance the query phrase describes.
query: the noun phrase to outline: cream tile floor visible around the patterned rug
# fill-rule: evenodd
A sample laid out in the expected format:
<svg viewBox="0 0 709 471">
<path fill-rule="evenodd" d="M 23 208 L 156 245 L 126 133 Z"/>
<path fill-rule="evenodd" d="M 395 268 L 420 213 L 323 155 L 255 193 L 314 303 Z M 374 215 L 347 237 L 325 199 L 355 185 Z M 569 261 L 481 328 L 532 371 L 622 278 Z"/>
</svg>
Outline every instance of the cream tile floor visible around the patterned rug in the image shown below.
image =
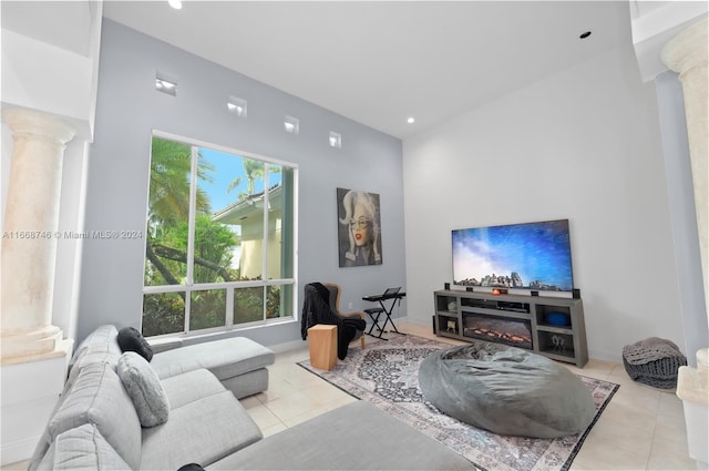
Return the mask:
<svg viewBox="0 0 709 471">
<path fill-rule="evenodd" d="M 436 338 L 430 328 L 401 324 L 399 330 Z M 367 341 L 378 341 L 367 337 Z M 454 340 L 450 340 L 455 342 Z M 352 344 L 350 348 L 360 348 Z M 270 370 L 269 388 L 242 400 L 264 431 L 277 433 L 289 427 L 338 408 L 356 399 L 330 386 L 297 365 L 308 358 L 307 346 L 278 354 Z M 583 369 L 568 368 L 584 376 L 620 385 L 620 389 L 572 463 L 572 470 L 693 470 L 687 453 L 687 431 L 681 401 L 674 391 L 662 391 L 633 381 L 623 365 L 590 360 Z M 24 470 L 27 463 L 2 470 Z"/>
</svg>

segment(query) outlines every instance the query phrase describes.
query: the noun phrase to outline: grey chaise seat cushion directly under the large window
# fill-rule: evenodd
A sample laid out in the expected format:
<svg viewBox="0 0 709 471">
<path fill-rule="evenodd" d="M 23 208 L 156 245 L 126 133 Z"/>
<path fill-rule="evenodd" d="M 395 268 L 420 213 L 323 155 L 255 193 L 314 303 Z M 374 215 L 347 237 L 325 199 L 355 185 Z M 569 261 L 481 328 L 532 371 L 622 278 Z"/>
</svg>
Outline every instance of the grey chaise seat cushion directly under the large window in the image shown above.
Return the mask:
<svg viewBox="0 0 709 471">
<path fill-rule="evenodd" d="M 273 365 L 275 354 L 246 337 L 188 345 L 155 354 L 151 365 L 161 379 L 206 368 L 219 380 Z"/>
</svg>

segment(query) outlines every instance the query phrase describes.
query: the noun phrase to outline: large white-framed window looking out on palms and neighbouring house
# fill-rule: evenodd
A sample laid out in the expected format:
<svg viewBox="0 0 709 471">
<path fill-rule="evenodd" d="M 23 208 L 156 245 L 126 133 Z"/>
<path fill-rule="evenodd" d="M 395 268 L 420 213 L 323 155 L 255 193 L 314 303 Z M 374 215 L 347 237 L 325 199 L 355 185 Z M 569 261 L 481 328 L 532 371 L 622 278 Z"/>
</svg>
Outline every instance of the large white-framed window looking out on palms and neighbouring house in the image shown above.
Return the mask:
<svg viewBox="0 0 709 471">
<path fill-rule="evenodd" d="M 153 136 L 144 336 L 292 316 L 296 178 L 292 165 Z"/>
</svg>

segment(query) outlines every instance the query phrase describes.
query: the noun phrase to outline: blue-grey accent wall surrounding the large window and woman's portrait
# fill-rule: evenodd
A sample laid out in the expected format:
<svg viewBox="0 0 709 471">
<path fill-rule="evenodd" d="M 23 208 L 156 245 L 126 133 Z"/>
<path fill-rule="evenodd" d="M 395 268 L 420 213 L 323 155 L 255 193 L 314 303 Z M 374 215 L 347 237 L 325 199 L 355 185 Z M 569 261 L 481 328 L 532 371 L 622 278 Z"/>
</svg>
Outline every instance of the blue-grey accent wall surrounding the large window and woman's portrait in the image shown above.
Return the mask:
<svg viewBox="0 0 709 471">
<path fill-rule="evenodd" d="M 160 130 L 298 165 L 298 309 L 311 281 L 339 283 L 342 307 L 352 309 L 369 307 L 361 297 L 386 286 L 405 287 L 400 140 L 110 20 L 101 44 L 86 232 L 145 231 L 151 136 Z M 155 90 L 156 71 L 176 79 L 177 96 Z M 227 112 L 228 95 L 248 101 L 246 120 Z M 299 135 L 284 131 L 285 115 L 300 120 Z M 342 149 L 329 146 L 330 131 Z M 339 268 L 337 187 L 380 195 L 383 265 Z M 144 239 L 84 240 L 78 341 L 103 324 L 140 326 L 144 248 Z M 285 344 L 300 338 L 300 326 L 239 335 Z"/>
</svg>

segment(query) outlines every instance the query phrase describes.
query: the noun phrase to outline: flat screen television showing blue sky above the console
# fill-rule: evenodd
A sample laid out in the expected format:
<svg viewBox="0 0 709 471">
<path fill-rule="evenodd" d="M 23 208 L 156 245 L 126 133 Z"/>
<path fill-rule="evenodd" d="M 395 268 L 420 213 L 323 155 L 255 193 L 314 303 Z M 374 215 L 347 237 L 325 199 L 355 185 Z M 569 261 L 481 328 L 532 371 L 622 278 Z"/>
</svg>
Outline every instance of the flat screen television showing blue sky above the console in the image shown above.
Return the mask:
<svg viewBox="0 0 709 471">
<path fill-rule="evenodd" d="M 454 229 L 453 284 L 574 289 L 568 219 Z"/>
</svg>

